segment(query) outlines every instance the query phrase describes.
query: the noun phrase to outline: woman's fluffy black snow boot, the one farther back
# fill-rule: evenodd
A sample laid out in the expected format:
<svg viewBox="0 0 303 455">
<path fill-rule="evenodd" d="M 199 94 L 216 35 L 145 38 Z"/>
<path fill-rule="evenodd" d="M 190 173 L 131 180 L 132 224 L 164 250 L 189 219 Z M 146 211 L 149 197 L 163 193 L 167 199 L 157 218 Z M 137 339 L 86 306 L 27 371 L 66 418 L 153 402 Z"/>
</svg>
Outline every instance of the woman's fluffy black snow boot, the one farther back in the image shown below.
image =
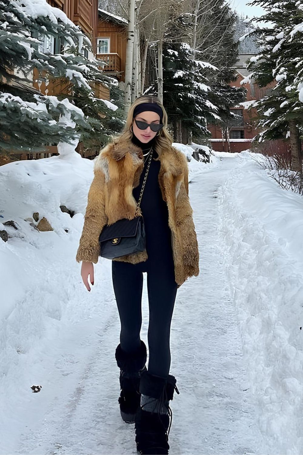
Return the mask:
<svg viewBox="0 0 303 455">
<path fill-rule="evenodd" d="M 140 407 L 141 394 L 139 392 L 140 376 L 146 371 L 146 346 L 141 340 L 141 346 L 137 352 L 128 354 L 118 344 L 115 352 L 117 365 L 120 368 L 120 414 L 124 422 L 134 423 L 134 418 Z"/>
</svg>

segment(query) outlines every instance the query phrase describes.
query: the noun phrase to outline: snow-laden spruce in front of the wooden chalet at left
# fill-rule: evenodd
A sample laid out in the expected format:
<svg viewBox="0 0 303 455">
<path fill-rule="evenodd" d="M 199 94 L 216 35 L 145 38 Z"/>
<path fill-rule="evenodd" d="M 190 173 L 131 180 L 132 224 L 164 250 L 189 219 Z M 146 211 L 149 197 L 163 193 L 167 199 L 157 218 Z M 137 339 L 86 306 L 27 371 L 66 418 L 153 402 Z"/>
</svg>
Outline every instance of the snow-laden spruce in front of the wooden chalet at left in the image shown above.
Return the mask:
<svg viewBox="0 0 303 455">
<path fill-rule="evenodd" d="M 91 43 L 79 27 L 45 0 L 0 0 L 0 151 L 32 151 L 94 133 L 89 117 L 67 99 L 77 87 L 86 104 L 96 103 L 93 82 L 111 85 L 100 61 L 84 56 L 89 51 Z M 65 95 L 41 95 L 33 87 L 36 71 L 39 84 L 68 81 Z M 112 117 L 103 101 L 99 109 Z M 75 127 L 59 121 L 66 114 Z"/>
</svg>

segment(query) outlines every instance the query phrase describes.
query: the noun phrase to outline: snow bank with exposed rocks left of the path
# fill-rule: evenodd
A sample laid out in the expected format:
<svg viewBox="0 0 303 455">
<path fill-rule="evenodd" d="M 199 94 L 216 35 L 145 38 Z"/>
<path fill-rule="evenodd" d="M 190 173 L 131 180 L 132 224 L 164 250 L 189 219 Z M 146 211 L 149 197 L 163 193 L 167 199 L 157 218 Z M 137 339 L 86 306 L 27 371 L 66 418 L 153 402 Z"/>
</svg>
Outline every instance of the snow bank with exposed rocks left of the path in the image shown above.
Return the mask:
<svg viewBox="0 0 303 455">
<path fill-rule="evenodd" d="M 0 239 L 3 453 L 14 453 L 15 435 L 22 433 L 29 410 L 43 415 L 45 403 L 56 393 L 54 364 L 60 359 L 49 358 L 50 345 L 66 336 L 74 324 L 91 317 L 99 304 L 87 295 L 75 261 L 92 178 L 93 162 L 76 152 L 0 167 L 0 230 L 10 236 L 7 242 Z M 61 212 L 60 205 L 75 215 Z M 53 231 L 37 231 L 34 212 L 39 213 L 39 221 L 45 217 Z M 3 225 L 10 220 L 17 230 Z M 98 264 L 96 273 L 99 268 L 98 281 L 103 284 L 103 277 L 109 281 L 109 264 Z M 48 364 L 49 371 L 42 364 Z M 42 384 L 44 389 L 32 394 L 33 384 Z M 37 398 L 40 394 L 42 401 Z"/>
</svg>

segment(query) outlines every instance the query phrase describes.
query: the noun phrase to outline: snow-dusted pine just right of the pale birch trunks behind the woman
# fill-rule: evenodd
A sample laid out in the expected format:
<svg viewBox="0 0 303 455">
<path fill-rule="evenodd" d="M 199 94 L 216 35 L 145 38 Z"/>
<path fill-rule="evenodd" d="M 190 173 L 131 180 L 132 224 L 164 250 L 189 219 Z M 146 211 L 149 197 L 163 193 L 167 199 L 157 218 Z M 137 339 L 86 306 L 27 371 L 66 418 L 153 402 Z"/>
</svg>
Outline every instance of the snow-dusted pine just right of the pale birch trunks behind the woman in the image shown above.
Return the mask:
<svg viewBox="0 0 303 455">
<path fill-rule="evenodd" d="M 173 124 L 174 140 L 185 144 L 189 143 L 189 131 L 194 142 L 209 136 L 206 117 L 217 117 L 217 107 L 209 100 L 209 81 L 205 76 L 214 74 L 216 68 L 192 58 L 193 49 L 183 41 L 189 27 L 180 15 L 165 34 L 163 47 L 163 102 Z"/>
</svg>

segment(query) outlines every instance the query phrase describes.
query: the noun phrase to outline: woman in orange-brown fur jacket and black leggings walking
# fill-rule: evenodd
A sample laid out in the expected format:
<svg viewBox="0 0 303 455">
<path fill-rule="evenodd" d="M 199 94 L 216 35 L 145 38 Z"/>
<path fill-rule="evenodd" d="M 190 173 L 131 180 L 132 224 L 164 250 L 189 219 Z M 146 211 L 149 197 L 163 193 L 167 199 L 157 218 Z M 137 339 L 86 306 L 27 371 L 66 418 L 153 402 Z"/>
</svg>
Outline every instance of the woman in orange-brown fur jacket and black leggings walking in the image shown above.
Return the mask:
<svg viewBox="0 0 303 455">
<path fill-rule="evenodd" d="M 140 96 L 130 106 L 121 134 L 94 162 L 84 227 L 76 255 L 90 291 L 93 263 L 99 258 L 99 234 L 106 224 L 143 215 L 146 248 L 112 260 L 114 294 L 121 323 L 115 359 L 120 368 L 120 412 L 135 423 L 138 453 L 168 454 L 169 400 L 176 379 L 169 374 L 170 324 L 177 288 L 199 274 L 199 251 L 189 203 L 188 164 L 172 147 L 167 113 L 155 96 Z M 150 156 L 151 154 L 151 156 Z M 149 364 L 140 339 L 143 273 L 149 299 Z M 171 424 L 171 421 L 170 421 Z"/>
</svg>

